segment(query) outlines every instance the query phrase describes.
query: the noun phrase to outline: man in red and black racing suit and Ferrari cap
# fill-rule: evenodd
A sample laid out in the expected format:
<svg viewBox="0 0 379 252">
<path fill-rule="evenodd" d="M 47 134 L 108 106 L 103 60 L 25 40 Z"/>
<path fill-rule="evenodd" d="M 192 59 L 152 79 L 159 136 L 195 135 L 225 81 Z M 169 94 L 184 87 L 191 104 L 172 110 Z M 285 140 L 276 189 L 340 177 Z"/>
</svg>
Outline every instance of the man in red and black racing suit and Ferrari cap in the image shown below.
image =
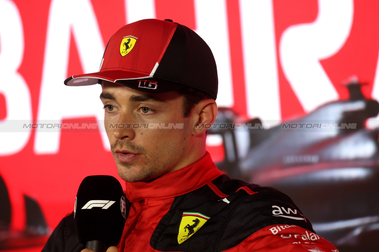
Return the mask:
<svg viewBox="0 0 379 252">
<path fill-rule="evenodd" d="M 337 251 L 288 196 L 216 168 L 201 127 L 217 115 L 216 63 L 189 28 L 130 23 L 108 42 L 99 72 L 64 83 L 102 85 L 105 128 L 130 201 L 121 241 L 108 251 Z M 44 250 L 83 248 L 69 215 Z"/>
</svg>

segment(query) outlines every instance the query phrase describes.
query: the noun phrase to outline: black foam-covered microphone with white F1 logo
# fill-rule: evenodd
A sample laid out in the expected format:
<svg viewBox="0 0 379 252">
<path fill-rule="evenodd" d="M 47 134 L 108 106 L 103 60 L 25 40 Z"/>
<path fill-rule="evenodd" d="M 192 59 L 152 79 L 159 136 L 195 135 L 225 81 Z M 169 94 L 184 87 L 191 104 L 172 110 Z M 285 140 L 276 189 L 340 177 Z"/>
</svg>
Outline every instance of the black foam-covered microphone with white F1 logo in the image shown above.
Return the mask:
<svg viewBox="0 0 379 252">
<path fill-rule="evenodd" d="M 96 252 L 117 246 L 125 218 L 124 192 L 115 177 L 97 175 L 83 179 L 74 208 L 75 229 L 81 244 Z"/>
</svg>

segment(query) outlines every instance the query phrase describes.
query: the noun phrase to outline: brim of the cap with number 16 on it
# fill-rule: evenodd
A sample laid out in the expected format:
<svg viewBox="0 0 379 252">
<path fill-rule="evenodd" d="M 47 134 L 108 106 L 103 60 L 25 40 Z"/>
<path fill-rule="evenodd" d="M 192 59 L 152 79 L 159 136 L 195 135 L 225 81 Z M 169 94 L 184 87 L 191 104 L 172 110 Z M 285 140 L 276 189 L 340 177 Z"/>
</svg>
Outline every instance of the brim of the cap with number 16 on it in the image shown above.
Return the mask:
<svg viewBox="0 0 379 252">
<path fill-rule="evenodd" d="M 66 86 L 89 86 L 99 84 L 99 80 L 111 81 L 146 93 L 170 92 L 185 85 L 151 77 L 146 74 L 108 70 L 84 75 L 73 75 L 64 81 Z"/>
</svg>

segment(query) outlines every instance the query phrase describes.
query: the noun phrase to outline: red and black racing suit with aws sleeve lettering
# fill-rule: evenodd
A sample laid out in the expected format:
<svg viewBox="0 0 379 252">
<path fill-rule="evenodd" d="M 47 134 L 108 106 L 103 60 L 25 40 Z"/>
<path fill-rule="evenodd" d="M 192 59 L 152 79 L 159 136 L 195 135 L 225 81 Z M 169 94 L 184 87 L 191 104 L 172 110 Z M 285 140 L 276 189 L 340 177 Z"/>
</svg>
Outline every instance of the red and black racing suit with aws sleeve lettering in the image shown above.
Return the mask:
<svg viewBox="0 0 379 252">
<path fill-rule="evenodd" d="M 119 251 L 338 251 L 285 194 L 230 179 L 210 154 L 148 182 L 126 182 L 129 213 Z M 197 220 L 196 220 L 197 219 Z M 42 251 L 80 251 L 73 215 Z"/>
</svg>

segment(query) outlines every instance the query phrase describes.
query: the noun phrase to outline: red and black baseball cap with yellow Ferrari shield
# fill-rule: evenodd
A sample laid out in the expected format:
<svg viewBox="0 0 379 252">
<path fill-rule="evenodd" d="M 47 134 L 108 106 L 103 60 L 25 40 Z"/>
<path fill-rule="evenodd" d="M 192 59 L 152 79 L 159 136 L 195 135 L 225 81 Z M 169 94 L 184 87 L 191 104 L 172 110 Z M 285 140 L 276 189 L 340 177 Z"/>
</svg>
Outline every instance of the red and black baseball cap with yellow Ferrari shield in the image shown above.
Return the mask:
<svg viewBox="0 0 379 252">
<path fill-rule="evenodd" d="M 73 75 L 67 86 L 112 81 L 147 93 L 189 86 L 217 98 L 215 58 L 193 30 L 172 20 L 144 19 L 123 26 L 108 42 L 99 72 Z"/>
</svg>

